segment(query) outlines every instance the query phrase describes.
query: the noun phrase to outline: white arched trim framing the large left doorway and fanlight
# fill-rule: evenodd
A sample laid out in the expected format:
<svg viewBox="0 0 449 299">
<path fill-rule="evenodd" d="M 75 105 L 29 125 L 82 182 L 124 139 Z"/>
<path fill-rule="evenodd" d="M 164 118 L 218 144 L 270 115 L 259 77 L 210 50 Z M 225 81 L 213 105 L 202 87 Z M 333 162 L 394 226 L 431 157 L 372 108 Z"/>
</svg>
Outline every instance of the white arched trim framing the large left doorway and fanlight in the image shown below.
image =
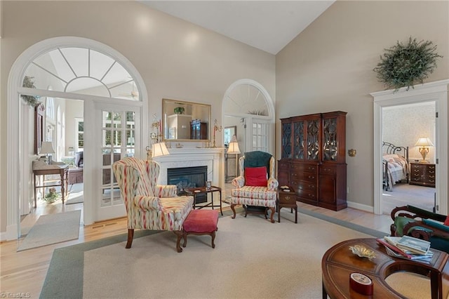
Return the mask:
<svg viewBox="0 0 449 299">
<path fill-rule="evenodd" d="M 7 148 L 6 156 L 8 157 L 6 165 L 6 178 L 8 182 L 6 183 L 6 195 L 7 195 L 7 223 L 6 223 L 6 240 L 18 239 L 20 237 L 20 212 L 19 212 L 19 202 L 21 198 L 21 187 L 23 182 L 20 180 L 20 167 L 24 162 L 20 160 L 20 141 L 19 141 L 19 128 L 20 128 L 20 109 L 28 109 L 27 105 L 22 104 L 20 100 L 20 86 L 22 86 L 22 78 L 25 74 L 29 63 L 34 59 L 43 55 L 48 51 L 53 50 L 56 47 L 85 47 L 91 48 L 100 53 L 105 53 L 115 60 L 119 61 L 123 67 L 125 67 L 128 72 L 135 78 L 138 90 L 142 95 L 142 111 L 148 111 L 148 95 L 147 88 L 145 88 L 144 81 L 140 76 L 138 70 L 133 66 L 133 64 L 119 51 L 102 44 L 98 41 L 93 41 L 91 39 L 85 39 L 83 37 L 77 36 L 62 36 L 54 37 L 51 39 L 46 39 L 40 41 L 33 46 L 27 48 L 20 56 L 15 60 L 11 71 L 8 76 L 8 89 L 7 89 L 7 100 L 8 100 L 8 111 L 7 111 Z M 51 95 L 51 94 L 49 94 Z M 53 94 L 54 95 L 54 94 Z M 53 96 L 52 95 L 52 96 Z M 148 135 L 148 121 L 147 117 L 142 117 L 142 131 L 141 138 Z M 141 150 L 141 152 L 144 152 Z M 18 154 L 19 153 L 19 154 Z"/>
</svg>

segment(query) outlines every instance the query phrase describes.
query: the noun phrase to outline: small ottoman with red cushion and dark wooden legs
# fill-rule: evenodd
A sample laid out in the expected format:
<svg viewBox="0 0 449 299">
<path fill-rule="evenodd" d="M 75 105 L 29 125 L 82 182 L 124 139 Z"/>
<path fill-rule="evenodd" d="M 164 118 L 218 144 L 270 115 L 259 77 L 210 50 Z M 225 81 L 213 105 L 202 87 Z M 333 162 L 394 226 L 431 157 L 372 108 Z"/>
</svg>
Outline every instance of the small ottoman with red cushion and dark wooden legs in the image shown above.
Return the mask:
<svg viewBox="0 0 449 299">
<path fill-rule="evenodd" d="M 182 225 L 183 247 L 187 246 L 187 234 L 209 234 L 212 237 L 212 248 L 215 248 L 215 231 L 217 231 L 217 210 L 192 210 Z"/>
</svg>

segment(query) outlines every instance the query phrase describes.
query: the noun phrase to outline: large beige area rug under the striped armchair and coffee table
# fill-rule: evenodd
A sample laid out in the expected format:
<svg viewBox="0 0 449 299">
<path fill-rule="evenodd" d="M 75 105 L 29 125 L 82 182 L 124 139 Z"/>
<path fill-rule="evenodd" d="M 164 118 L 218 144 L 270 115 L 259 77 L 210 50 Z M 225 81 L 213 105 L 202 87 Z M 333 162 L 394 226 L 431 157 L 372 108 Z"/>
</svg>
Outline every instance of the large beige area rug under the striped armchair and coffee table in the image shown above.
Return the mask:
<svg viewBox="0 0 449 299">
<path fill-rule="evenodd" d="M 327 249 L 372 237 L 301 213 L 297 224 L 291 213 L 281 217 L 274 224 L 260 215 L 220 218 L 215 249 L 210 236 L 189 236 L 177 253 L 175 235 L 162 232 L 135 239 L 130 249 L 120 242 L 85 251 L 82 296 L 322 298 L 321 258 Z M 389 282 L 408 298 L 430 298 L 429 280 L 418 277 L 410 288 L 403 279 Z"/>
</svg>

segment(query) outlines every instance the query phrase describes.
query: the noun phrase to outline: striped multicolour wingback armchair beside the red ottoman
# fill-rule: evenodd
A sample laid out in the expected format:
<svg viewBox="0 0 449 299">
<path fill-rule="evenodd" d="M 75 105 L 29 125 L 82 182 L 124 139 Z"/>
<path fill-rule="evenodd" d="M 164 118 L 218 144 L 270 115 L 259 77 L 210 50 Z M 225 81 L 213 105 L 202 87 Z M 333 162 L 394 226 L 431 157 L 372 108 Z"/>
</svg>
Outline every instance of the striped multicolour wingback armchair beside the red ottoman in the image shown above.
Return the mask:
<svg viewBox="0 0 449 299">
<path fill-rule="evenodd" d="M 177 235 L 177 252 L 182 252 L 182 224 L 192 211 L 193 197 L 178 197 L 175 185 L 156 185 L 159 164 L 154 161 L 126 157 L 112 169 L 128 215 L 126 248 L 133 244 L 135 229 L 171 230 Z"/>
</svg>

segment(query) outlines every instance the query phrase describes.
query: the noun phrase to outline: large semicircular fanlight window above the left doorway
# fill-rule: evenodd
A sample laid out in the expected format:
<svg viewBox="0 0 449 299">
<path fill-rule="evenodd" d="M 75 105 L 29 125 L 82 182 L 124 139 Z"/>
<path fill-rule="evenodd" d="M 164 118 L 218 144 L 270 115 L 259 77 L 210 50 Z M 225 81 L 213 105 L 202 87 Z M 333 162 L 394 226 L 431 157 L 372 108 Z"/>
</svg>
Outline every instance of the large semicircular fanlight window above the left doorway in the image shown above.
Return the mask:
<svg viewBox="0 0 449 299">
<path fill-rule="evenodd" d="M 34 59 L 25 71 L 32 87 L 106 98 L 140 100 L 130 73 L 114 58 L 91 48 L 55 48 Z M 25 81 L 24 81 L 25 82 Z"/>
</svg>

